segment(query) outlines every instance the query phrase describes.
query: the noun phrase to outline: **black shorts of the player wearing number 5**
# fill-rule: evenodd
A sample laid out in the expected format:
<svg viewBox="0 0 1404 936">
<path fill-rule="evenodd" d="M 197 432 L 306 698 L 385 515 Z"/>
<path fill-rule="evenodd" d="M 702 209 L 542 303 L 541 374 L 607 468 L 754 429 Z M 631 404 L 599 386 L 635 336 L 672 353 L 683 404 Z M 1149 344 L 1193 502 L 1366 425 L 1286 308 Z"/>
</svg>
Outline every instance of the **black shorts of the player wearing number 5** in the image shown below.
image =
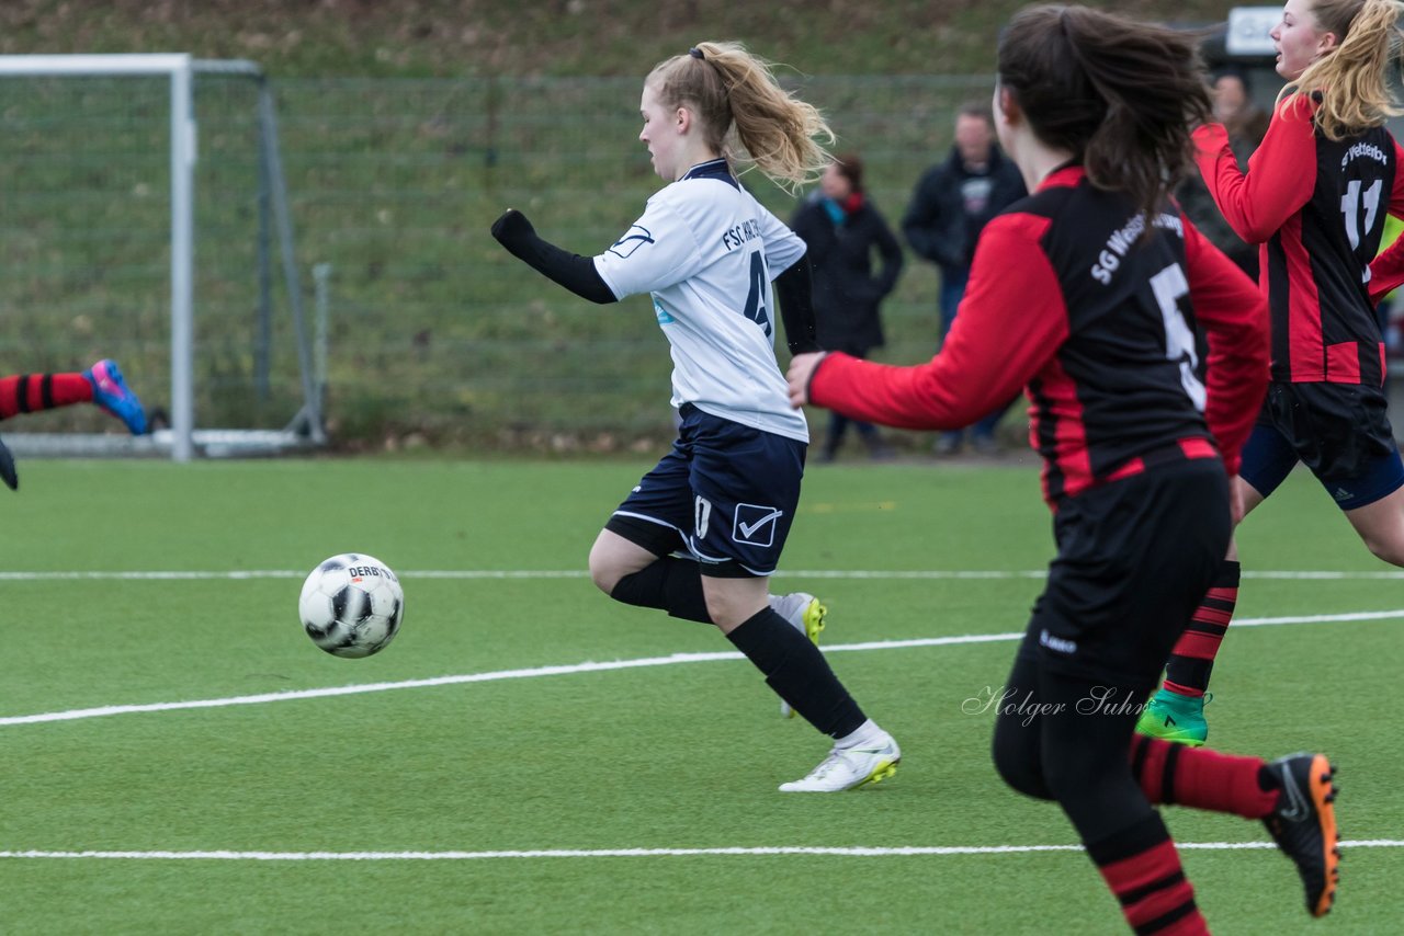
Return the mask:
<svg viewBox="0 0 1404 936">
<path fill-rule="evenodd" d="M 1163 463 L 1059 502 L 1057 557 L 1021 657 L 1150 692 L 1228 549 L 1219 459 Z"/>
</svg>

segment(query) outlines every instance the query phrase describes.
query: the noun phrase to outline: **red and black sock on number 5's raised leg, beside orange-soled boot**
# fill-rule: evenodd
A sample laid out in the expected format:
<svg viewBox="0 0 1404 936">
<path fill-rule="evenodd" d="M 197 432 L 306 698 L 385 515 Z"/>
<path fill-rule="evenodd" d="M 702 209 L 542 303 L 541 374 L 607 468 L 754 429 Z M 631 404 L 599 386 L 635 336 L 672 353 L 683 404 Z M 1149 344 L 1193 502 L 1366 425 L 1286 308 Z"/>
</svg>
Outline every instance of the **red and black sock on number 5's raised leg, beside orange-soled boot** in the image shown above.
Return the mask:
<svg viewBox="0 0 1404 936">
<path fill-rule="evenodd" d="M 1261 758 L 1134 735 L 1132 776 L 1151 803 L 1189 805 L 1261 820 L 1278 804 L 1278 790 Z"/>
</svg>

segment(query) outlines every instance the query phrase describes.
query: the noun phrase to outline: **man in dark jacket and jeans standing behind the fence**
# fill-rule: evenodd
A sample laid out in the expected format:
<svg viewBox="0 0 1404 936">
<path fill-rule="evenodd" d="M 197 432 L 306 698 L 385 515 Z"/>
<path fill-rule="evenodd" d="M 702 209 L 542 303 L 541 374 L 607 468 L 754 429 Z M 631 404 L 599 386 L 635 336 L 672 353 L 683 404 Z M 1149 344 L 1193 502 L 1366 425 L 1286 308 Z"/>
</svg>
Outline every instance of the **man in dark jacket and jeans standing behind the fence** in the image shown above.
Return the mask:
<svg viewBox="0 0 1404 936">
<path fill-rule="evenodd" d="M 956 112 L 951 157 L 921 177 L 901 219 L 907 244 L 941 268 L 941 327 L 951 331 L 970 276 L 970 257 L 986 223 L 1024 198 L 1024 177 L 994 139 L 994 116 L 987 104 L 966 104 Z M 972 432 L 981 452 L 994 450 L 994 427 L 1007 407 L 976 424 Z M 938 453 L 960 449 L 963 432 L 945 432 Z"/>
</svg>

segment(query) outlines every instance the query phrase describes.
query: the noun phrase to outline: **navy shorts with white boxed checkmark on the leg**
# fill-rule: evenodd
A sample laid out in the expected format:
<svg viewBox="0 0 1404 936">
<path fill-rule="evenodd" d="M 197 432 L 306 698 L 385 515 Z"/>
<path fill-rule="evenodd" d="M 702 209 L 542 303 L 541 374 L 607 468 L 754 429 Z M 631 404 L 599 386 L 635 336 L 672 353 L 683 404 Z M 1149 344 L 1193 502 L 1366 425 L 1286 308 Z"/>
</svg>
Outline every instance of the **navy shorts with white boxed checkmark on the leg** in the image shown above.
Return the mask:
<svg viewBox="0 0 1404 936">
<path fill-rule="evenodd" d="M 694 406 L 680 415 L 673 450 L 605 529 L 657 556 L 684 550 L 703 575 L 772 574 L 795 521 L 809 445 Z"/>
</svg>

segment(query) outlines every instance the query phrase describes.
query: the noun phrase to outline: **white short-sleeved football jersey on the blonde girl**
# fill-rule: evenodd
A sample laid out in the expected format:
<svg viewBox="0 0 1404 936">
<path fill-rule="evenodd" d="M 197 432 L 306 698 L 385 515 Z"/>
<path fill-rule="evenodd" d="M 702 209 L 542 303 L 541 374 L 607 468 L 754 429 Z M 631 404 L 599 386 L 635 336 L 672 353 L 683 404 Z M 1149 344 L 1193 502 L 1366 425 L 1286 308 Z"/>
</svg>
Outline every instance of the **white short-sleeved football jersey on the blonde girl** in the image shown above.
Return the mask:
<svg viewBox="0 0 1404 936">
<path fill-rule="evenodd" d="M 595 269 L 619 299 L 653 296 L 673 348 L 673 406 L 807 442 L 775 361 L 771 295 L 772 271 L 803 253 L 804 241 L 717 159 L 654 194 Z"/>
</svg>

